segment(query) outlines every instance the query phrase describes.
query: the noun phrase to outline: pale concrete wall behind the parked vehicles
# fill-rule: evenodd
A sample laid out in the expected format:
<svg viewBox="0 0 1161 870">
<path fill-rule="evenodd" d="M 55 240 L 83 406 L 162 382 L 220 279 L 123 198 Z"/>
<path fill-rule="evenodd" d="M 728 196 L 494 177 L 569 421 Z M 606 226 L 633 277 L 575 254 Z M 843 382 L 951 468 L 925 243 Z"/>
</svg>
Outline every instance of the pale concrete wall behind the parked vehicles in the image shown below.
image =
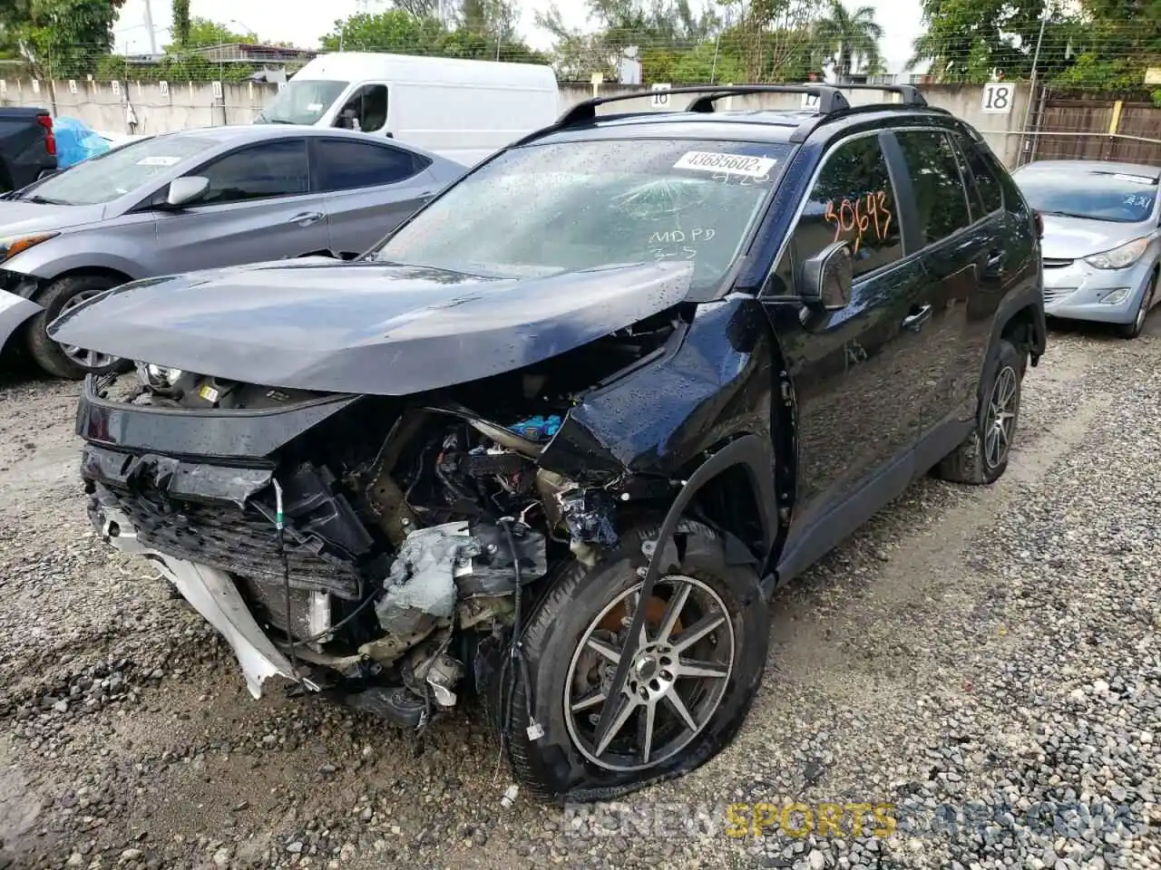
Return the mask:
<svg viewBox="0 0 1161 870">
<path fill-rule="evenodd" d="M 109 81 L 39 81 L 0 79 L 0 104 L 39 106 L 57 115 L 84 121 L 94 130 L 108 133 L 158 133 L 192 126 L 219 124 L 248 124 L 277 89 L 269 84 L 224 82 L 216 90 L 215 82 L 118 82 L 117 90 Z M 1012 104 L 1008 113 L 989 113 L 982 108 L 985 90 L 980 86 L 929 85 L 923 94 L 932 106 L 947 109 L 975 126 L 1009 166 L 1016 165 L 1019 131 L 1027 104 L 1027 85 L 1012 85 Z M 637 93 L 640 100 L 618 103 L 603 111 L 639 111 L 651 109 L 648 90 L 625 85 L 607 85 L 598 89 L 600 96 Z M 593 95 L 591 85 L 561 85 L 561 110 Z M 878 102 L 880 92 L 846 92 L 852 104 Z M 673 95 L 670 108 L 684 108 L 688 97 Z M 796 94 L 752 94 L 733 99 L 735 109 L 794 109 L 801 106 Z M 128 125 L 129 107 L 136 117 L 136 128 Z M 658 109 L 659 110 L 659 109 Z"/>
</svg>

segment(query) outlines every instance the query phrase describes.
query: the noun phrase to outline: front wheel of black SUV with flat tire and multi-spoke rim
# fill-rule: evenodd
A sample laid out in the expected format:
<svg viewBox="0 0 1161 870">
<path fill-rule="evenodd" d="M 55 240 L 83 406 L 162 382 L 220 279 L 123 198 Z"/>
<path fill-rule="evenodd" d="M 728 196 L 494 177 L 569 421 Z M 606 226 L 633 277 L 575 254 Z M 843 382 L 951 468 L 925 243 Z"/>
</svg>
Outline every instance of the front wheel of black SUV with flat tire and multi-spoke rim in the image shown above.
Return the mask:
<svg viewBox="0 0 1161 870">
<path fill-rule="evenodd" d="M 769 611 L 758 575 L 729 565 L 709 527 L 678 527 L 658 556 L 665 564 L 647 606 L 646 637 L 626 637 L 648 565 L 642 545 L 658 532 L 656 525 L 628 531 L 593 568 L 570 564 L 522 632 L 543 735 L 527 734 L 528 694 L 517 679 L 507 748 L 517 781 L 541 800 L 607 799 L 688 773 L 734 739 L 753 703 Z M 613 702 L 604 693 L 626 647 L 634 665 Z M 598 734 L 608 703 L 613 727 Z M 505 705 L 495 708 L 503 726 Z"/>
</svg>

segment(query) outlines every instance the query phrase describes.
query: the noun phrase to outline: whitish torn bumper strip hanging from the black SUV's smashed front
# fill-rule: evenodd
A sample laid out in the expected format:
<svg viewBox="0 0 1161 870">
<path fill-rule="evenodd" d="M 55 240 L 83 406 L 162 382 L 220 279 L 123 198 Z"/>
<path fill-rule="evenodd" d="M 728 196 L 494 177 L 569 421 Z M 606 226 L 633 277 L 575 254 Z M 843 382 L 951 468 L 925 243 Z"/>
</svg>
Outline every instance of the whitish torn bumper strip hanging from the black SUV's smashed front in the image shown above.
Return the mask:
<svg viewBox="0 0 1161 870">
<path fill-rule="evenodd" d="M 290 662 L 250 615 L 246 602 L 229 574 L 150 549 L 137 539 L 129 519 L 116 508 L 99 507 L 94 520 L 98 532 L 106 543 L 123 553 L 143 556 L 156 563 L 161 574 L 178 588 L 186 601 L 218 630 L 233 650 L 251 695 L 260 698 L 262 683 L 272 676 L 295 679 Z M 308 683 L 308 688 L 317 687 Z"/>
</svg>

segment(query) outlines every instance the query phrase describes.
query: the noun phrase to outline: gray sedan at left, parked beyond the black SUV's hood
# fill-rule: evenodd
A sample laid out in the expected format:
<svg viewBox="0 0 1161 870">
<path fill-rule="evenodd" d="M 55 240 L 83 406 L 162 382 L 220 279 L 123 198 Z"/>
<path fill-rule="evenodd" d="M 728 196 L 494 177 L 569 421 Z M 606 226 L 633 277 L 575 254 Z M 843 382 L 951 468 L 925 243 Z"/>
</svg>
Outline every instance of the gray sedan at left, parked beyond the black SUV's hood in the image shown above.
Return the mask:
<svg viewBox="0 0 1161 870">
<path fill-rule="evenodd" d="M 372 247 L 466 172 L 397 142 L 309 126 L 140 139 L 0 201 L 0 345 L 20 326 L 59 377 L 117 364 L 45 326 L 127 281 Z"/>
</svg>

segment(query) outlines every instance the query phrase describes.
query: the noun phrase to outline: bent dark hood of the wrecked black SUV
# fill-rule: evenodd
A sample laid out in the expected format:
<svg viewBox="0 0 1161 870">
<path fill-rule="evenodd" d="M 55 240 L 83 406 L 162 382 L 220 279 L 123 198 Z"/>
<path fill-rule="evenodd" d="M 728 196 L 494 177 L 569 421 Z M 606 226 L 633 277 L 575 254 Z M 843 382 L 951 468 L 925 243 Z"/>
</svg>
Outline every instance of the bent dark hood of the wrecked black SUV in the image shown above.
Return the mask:
<svg viewBox="0 0 1161 870">
<path fill-rule="evenodd" d="M 687 262 L 489 278 L 311 258 L 146 278 L 49 335 L 202 375 L 406 396 L 558 356 L 682 302 Z"/>
</svg>

